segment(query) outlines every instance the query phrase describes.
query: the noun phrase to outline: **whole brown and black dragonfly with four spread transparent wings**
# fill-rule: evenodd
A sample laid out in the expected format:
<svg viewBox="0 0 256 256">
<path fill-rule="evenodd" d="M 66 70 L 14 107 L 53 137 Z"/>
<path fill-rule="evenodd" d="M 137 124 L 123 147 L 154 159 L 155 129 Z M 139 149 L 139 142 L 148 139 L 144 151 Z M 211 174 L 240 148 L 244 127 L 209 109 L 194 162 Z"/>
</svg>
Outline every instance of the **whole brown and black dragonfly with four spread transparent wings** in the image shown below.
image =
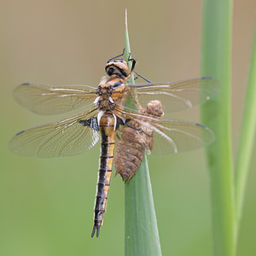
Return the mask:
<svg viewBox="0 0 256 256">
<path fill-rule="evenodd" d="M 163 119 L 150 112 L 143 113 L 138 108 L 145 108 L 152 100 L 159 100 L 165 113 L 192 108 L 218 92 L 217 80 L 201 77 L 168 83 L 146 80 L 141 84 L 128 84 L 127 80 L 136 73 L 136 60 L 129 58 L 125 61 L 120 56 L 108 61 L 105 67 L 108 76 L 96 88 L 82 84 L 53 86 L 24 83 L 14 90 L 15 100 L 33 113 L 51 115 L 83 108 L 67 119 L 18 132 L 9 141 L 9 149 L 15 154 L 43 158 L 82 154 L 101 139 L 91 237 L 95 232 L 98 237 L 102 227 L 113 169 L 114 145 L 122 136 L 120 128 L 130 123 L 130 127 L 137 131 L 137 125 L 132 126 L 133 123 L 139 124 L 141 132 L 149 129 L 150 137 L 154 136 L 152 154 L 201 148 L 214 139 L 212 131 L 204 125 Z M 134 107 L 126 106 L 128 99 L 135 102 Z M 144 133 L 147 134 L 147 131 Z"/>
</svg>

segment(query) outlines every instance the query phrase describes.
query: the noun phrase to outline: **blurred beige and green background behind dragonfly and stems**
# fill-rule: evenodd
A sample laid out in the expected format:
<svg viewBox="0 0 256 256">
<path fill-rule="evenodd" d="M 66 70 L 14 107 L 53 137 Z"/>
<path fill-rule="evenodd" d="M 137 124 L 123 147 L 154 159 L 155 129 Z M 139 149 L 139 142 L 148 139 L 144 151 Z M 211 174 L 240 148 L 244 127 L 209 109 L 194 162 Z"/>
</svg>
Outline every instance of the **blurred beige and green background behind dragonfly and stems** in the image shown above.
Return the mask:
<svg viewBox="0 0 256 256">
<path fill-rule="evenodd" d="M 202 1 L 7 1 L 0 3 L 0 254 L 123 255 L 124 183 L 113 177 L 101 235 L 90 238 L 100 145 L 79 156 L 36 159 L 9 152 L 10 137 L 67 116 L 38 116 L 14 100 L 25 82 L 97 86 L 124 48 L 125 8 L 137 72 L 155 82 L 200 75 Z M 235 1 L 232 139 L 236 158 L 256 17 Z M 211 76 L 211 74 L 208 74 Z M 200 121 L 199 108 L 173 115 Z M 255 156 L 254 147 L 253 155 Z M 203 149 L 149 156 L 163 255 L 211 255 L 209 179 Z M 256 255 L 255 166 L 247 182 L 238 255 Z M 163 204 L 163 198 L 168 204 Z M 165 200 L 166 201 L 166 200 Z"/>
</svg>

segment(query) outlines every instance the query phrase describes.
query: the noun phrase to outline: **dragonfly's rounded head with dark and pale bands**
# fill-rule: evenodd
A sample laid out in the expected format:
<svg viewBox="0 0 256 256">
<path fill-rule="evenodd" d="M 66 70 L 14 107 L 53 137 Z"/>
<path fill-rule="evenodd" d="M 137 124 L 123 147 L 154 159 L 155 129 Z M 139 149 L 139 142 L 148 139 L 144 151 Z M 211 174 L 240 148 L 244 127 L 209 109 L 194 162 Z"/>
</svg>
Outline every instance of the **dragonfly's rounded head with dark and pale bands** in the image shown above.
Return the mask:
<svg viewBox="0 0 256 256">
<path fill-rule="evenodd" d="M 121 79 L 127 79 L 130 77 L 130 69 L 128 64 L 124 60 L 113 60 L 108 62 L 105 67 L 105 71 L 109 77 L 119 77 Z"/>
</svg>

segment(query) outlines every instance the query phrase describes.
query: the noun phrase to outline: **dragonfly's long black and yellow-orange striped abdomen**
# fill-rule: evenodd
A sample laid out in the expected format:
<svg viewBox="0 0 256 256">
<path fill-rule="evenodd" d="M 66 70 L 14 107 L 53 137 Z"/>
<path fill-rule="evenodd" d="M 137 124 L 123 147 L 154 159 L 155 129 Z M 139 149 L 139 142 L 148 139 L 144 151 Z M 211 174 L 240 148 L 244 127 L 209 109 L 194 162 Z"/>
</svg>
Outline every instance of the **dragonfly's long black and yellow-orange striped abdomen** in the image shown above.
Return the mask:
<svg viewBox="0 0 256 256">
<path fill-rule="evenodd" d="M 113 113 L 104 113 L 99 120 L 99 127 L 102 133 L 102 153 L 96 190 L 94 226 L 91 237 L 94 236 L 95 231 L 96 236 L 99 236 L 104 212 L 106 211 L 108 189 L 113 166 L 115 125 L 116 118 Z"/>
</svg>

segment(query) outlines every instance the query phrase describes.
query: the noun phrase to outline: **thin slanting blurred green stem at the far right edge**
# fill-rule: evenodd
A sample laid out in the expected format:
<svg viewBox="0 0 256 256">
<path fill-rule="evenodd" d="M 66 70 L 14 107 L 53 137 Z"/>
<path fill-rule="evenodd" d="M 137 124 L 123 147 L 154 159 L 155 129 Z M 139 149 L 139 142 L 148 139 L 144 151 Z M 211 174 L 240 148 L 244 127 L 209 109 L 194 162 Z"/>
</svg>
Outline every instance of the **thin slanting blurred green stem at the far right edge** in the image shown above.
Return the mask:
<svg viewBox="0 0 256 256">
<path fill-rule="evenodd" d="M 247 83 L 247 95 L 243 111 L 241 137 L 236 158 L 236 216 L 237 226 L 241 219 L 247 173 L 255 142 L 256 128 L 256 24 L 254 32 L 251 68 Z"/>
</svg>

